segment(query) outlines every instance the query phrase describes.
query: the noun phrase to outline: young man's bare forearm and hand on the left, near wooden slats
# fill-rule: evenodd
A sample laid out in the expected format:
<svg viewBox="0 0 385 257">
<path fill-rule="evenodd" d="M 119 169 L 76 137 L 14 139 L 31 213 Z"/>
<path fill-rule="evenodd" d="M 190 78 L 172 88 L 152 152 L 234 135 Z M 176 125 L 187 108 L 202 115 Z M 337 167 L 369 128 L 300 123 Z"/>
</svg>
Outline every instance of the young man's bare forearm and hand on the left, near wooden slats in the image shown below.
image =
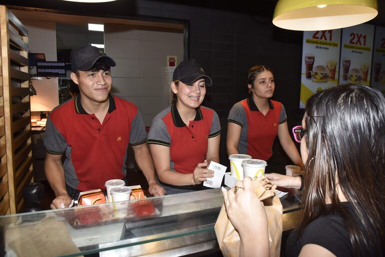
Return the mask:
<svg viewBox="0 0 385 257">
<path fill-rule="evenodd" d="M 62 154 L 50 154 L 48 152 L 45 155 L 45 176 L 56 196 L 50 205 L 52 209 L 61 208 L 62 204 L 64 204 L 64 207 L 68 207 L 71 203 L 71 198 L 65 189 L 64 168 L 61 157 Z"/>
</svg>

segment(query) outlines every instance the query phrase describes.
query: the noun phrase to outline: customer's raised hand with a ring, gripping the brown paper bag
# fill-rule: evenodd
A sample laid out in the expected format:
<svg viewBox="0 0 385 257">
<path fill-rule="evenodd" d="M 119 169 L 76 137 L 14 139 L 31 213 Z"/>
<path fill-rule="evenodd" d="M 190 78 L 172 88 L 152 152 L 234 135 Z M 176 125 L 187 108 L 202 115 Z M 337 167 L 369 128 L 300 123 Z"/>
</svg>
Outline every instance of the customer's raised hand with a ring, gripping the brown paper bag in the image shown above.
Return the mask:
<svg viewBox="0 0 385 257">
<path fill-rule="evenodd" d="M 258 233 L 262 229 L 267 231 L 263 202 L 254 193 L 251 178 L 245 177 L 243 182 L 237 181 L 229 191 L 222 187 L 222 192 L 227 216 L 240 237 L 249 237 L 250 234 Z"/>
</svg>

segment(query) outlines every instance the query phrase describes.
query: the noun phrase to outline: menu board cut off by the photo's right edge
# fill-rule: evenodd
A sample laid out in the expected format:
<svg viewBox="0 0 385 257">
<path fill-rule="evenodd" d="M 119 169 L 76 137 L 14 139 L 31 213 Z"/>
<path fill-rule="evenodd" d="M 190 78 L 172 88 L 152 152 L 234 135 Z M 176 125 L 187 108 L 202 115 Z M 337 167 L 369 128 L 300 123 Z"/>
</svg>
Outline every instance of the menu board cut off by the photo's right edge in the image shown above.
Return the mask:
<svg viewBox="0 0 385 257">
<path fill-rule="evenodd" d="M 373 49 L 371 86 L 385 94 L 385 27 L 375 27 Z"/>
</svg>

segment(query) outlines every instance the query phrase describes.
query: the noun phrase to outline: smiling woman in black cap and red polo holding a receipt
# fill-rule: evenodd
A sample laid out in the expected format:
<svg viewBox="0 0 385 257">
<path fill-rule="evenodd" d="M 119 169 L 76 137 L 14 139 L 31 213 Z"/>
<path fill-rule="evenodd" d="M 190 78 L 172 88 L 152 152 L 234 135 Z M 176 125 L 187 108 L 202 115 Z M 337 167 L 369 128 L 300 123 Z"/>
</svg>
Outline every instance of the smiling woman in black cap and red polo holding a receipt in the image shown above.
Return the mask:
<svg viewBox="0 0 385 257">
<path fill-rule="evenodd" d="M 166 194 L 200 190 L 219 162 L 220 124 L 216 112 L 200 106 L 211 79 L 194 60 L 175 68 L 172 103 L 152 120 L 148 144 Z"/>
</svg>

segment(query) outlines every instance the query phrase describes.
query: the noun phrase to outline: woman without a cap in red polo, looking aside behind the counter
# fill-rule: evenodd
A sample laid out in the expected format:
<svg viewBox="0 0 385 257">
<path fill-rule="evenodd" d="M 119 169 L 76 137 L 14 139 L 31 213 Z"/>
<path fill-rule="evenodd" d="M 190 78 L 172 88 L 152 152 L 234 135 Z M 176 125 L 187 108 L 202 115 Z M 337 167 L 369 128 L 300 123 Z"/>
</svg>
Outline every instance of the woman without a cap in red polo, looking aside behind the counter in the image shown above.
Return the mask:
<svg viewBox="0 0 385 257">
<path fill-rule="evenodd" d="M 227 153 L 268 160 L 278 135 L 283 150 L 302 168 L 302 160 L 287 130 L 286 111 L 282 103 L 269 99 L 275 87 L 272 70 L 264 65 L 251 67 L 247 87 L 249 96 L 235 103 L 228 114 Z"/>
</svg>

